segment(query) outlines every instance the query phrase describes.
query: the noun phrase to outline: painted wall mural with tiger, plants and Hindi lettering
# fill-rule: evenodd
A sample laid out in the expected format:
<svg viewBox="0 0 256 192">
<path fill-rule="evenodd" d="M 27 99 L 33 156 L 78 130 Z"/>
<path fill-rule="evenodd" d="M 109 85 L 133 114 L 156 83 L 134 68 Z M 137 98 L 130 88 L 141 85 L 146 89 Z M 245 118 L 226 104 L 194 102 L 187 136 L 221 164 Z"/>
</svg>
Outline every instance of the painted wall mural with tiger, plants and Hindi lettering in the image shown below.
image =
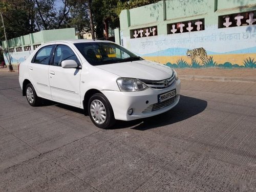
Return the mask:
<svg viewBox="0 0 256 192">
<path fill-rule="evenodd" d="M 141 57 L 173 68 L 256 68 L 256 25 L 130 39 L 123 44 Z"/>
</svg>

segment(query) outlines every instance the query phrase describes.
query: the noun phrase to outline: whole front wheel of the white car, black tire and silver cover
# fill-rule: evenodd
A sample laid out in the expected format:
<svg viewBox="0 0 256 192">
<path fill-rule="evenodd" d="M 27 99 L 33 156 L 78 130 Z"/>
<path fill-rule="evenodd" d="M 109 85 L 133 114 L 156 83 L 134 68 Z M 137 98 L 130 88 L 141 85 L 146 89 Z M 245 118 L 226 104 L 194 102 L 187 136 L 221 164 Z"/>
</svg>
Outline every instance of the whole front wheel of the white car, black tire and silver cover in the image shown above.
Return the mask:
<svg viewBox="0 0 256 192">
<path fill-rule="evenodd" d="M 101 129 L 109 129 L 116 121 L 112 106 L 102 93 L 96 93 L 89 99 L 88 114 L 92 122 Z"/>
</svg>

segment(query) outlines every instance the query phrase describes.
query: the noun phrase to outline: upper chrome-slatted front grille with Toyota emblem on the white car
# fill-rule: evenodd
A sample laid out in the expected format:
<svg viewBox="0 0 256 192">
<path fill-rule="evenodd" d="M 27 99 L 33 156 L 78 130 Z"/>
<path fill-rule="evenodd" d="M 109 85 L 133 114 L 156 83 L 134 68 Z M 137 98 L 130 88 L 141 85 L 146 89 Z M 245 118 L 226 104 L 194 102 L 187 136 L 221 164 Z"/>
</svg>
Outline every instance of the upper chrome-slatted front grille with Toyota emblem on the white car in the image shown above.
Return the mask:
<svg viewBox="0 0 256 192">
<path fill-rule="evenodd" d="M 175 73 L 168 79 L 163 80 L 147 80 L 147 79 L 139 79 L 143 83 L 145 83 L 148 87 L 155 89 L 155 90 L 162 90 L 166 89 L 175 82 Z"/>
</svg>

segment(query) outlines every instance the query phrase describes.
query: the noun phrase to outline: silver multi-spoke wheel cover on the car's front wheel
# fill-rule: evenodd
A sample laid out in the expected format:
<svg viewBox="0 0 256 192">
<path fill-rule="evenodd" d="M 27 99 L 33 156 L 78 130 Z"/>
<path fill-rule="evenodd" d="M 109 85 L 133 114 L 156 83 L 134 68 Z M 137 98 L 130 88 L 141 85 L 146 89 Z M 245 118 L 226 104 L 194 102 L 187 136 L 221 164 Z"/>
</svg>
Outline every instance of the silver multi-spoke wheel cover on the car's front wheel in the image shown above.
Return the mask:
<svg viewBox="0 0 256 192">
<path fill-rule="evenodd" d="M 91 102 L 90 112 L 94 122 L 97 124 L 103 124 L 106 121 L 106 109 L 100 100 Z"/>
</svg>

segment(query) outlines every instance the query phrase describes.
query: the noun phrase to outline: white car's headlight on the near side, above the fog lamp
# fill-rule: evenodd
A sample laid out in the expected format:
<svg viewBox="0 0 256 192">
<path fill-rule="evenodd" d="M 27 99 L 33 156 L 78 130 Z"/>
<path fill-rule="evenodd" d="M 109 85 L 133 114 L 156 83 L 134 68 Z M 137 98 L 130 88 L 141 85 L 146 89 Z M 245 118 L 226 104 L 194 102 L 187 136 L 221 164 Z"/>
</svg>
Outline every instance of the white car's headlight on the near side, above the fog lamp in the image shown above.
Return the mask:
<svg viewBox="0 0 256 192">
<path fill-rule="evenodd" d="M 134 78 L 120 77 L 116 80 L 116 82 L 120 91 L 125 92 L 143 91 L 148 88 L 143 82 Z"/>
</svg>

